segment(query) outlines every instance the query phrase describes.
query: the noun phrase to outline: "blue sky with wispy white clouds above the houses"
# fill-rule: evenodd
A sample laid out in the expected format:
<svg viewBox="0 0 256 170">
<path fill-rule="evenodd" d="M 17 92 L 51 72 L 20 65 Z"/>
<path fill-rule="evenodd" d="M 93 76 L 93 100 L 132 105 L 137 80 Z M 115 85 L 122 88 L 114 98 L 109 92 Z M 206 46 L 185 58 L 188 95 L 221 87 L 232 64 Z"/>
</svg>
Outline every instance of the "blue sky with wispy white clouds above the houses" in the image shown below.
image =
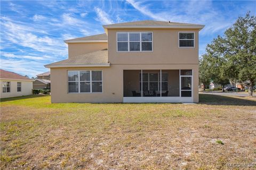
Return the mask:
<svg viewBox="0 0 256 170">
<path fill-rule="evenodd" d="M 256 1 L 1 1 L 1 69 L 35 77 L 68 57 L 63 40 L 103 33 L 102 24 L 161 20 L 204 24 L 199 56 Z"/>
</svg>

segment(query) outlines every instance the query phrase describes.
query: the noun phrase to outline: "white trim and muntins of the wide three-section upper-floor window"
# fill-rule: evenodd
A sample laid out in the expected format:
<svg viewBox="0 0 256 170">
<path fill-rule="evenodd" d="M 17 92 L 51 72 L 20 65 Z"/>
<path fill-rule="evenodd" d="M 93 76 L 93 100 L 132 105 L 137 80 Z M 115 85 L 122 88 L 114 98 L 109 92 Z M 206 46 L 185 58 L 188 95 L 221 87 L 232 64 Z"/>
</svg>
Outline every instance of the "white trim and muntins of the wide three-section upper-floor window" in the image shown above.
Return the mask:
<svg viewBox="0 0 256 170">
<path fill-rule="evenodd" d="M 128 41 L 117 41 L 117 35 L 118 33 L 127 33 L 128 36 Z M 140 33 L 140 50 L 138 51 L 130 51 L 130 42 L 139 42 L 139 41 L 130 41 L 130 33 Z M 141 33 L 151 33 L 152 35 L 152 41 L 142 41 L 141 40 Z M 118 51 L 118 43 L 128 43 L 128 50 L 127 51 Z M 152 50 L 145 50 L 142 51 L 142 43 L 152 43 Z M 138 52 L 153 52 L 153 32 L 151 31 L 146 31 L 146 32 L 116 32 L 116 52 L 118 53 L 127 53 L 127 52 L 131 52 L 131 53 L 138 53 Z"/>
</svg>

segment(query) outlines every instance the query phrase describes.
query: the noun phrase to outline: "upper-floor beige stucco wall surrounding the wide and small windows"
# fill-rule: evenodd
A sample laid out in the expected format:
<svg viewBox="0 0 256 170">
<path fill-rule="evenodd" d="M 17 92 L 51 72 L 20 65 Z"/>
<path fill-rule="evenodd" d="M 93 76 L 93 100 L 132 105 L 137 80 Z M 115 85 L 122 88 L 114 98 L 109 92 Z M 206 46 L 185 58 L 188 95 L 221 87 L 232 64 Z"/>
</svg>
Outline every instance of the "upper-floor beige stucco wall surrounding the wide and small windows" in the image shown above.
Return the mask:
<svg viewBox="0 0 256 170">
<path fill-rule="evenodd" d="M 116 32 L 153 32 L 153 52 L 117 52 Z M 179 48 L 179 32 L 195 32 L 194 48 Z M 197 29 L 109 29 L 111 64 L 198 64 Z"/>
</svg>

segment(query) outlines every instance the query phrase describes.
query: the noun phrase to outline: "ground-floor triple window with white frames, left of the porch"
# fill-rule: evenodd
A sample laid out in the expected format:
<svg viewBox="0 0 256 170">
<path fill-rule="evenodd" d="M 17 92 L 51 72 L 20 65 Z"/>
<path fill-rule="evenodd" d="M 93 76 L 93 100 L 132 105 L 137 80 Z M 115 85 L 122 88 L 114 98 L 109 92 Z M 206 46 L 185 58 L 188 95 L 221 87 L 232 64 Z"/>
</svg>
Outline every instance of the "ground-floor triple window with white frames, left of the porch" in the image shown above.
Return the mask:
<svg viewBox="0 0 256 170">
<path fill-rule="evenodd" d="M 68 71 L 68 92 L 102 92 L 102 71 Z"/>
</svg>

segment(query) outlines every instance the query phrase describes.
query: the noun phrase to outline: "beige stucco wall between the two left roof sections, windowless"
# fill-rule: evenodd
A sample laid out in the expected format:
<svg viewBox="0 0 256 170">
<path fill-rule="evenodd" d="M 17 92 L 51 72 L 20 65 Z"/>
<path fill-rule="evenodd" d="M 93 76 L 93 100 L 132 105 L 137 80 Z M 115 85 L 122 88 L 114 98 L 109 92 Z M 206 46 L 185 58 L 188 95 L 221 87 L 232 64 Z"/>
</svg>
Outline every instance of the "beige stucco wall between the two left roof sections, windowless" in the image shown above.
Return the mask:
<svg viewBox="0 0 256 170">
<path fill-rule="evenodd" d="M 68 57 L 75 57 L 107 48 L 108 43 L 68 43 Z"/>
</svg>

